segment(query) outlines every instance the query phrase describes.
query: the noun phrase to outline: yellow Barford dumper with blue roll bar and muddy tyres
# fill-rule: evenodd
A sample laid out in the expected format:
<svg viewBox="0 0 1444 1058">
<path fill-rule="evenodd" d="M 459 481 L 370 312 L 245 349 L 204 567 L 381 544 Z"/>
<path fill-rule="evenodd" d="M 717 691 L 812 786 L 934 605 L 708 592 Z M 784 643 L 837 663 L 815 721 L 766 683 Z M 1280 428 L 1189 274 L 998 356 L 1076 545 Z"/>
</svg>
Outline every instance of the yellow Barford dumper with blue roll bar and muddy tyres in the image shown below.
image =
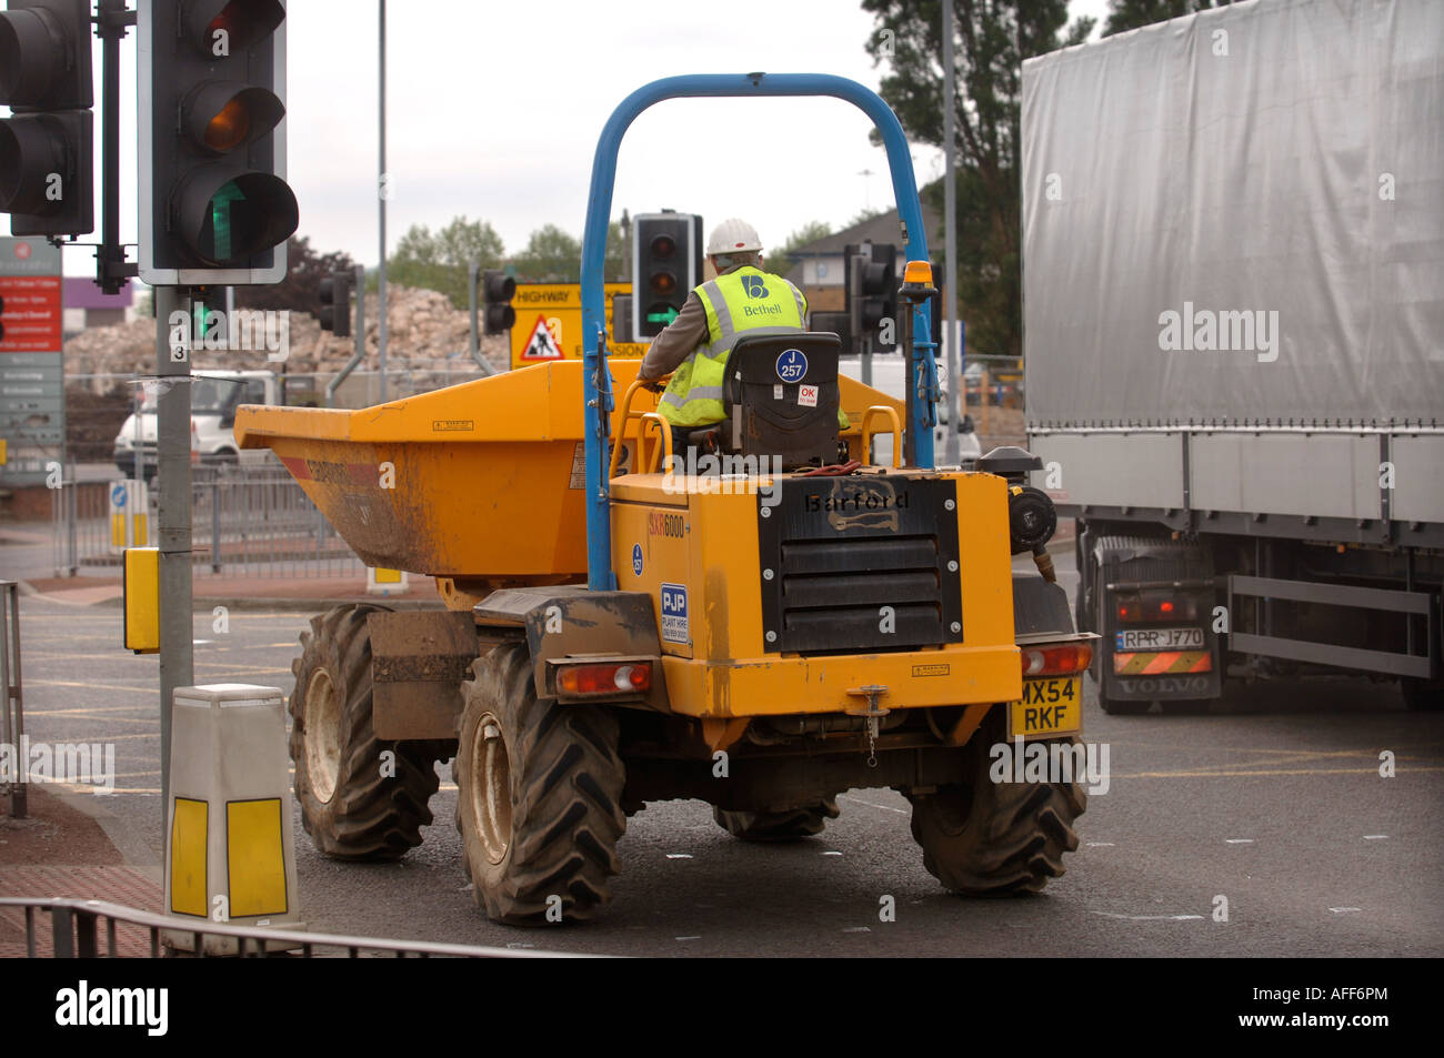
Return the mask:
<svg viewBox="0 0 1444 1058">
<path fill-rule="evenodd" d="M 918 385 L 898 403 L 839 377 L 836 335 L 744 338 L 726 420 L 679 463 L 637 361 L 606 358 L 617 146 L 663 98 L 797 94 L 855 102 L 888 146 Z M 1037 460 L 933 466 L 926 260 L 907 144 L 875 94 L 669 78 L 628 97 L 598 147 L 582 361 L 358 411 L 241 408 L 243 447 L 271 447 L 362 560 L 435 576 L 445 603 L 344 606 L 302 637 L 290 748 L 316 846 L 403 856 L 453 758 L 477 901 L 505 922 L 591 917 L 627 817 L 669 798 L 710 803 L 742 840 L 787 840 L 819 833 L 839 792 L 891 787 L 949 889 L 1061 875 L 1079 777 L 995 782 L 991 749 L 1077 742 L 1096 637 L 1074 634 L 1051 582 L 1053 508 L 1024 484 Z M 908 465 L 871 463 L 882 430 Z M 1025 551 L 1041 572 L 1012 572 Z"/>
</svg>

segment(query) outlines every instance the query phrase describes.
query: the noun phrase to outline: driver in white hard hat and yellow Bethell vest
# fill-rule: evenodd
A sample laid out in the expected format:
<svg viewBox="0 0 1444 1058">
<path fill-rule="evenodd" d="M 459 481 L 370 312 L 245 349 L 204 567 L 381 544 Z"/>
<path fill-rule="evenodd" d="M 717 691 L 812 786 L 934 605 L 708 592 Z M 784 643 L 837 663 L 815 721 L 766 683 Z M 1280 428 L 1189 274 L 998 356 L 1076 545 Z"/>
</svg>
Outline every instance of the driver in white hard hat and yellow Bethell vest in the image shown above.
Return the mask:
<svg viewBox="0 0 1444 1058">
<path fill-rule="evenodd" d="M 708 258 L 718 277 L 687 294 L 637 371 L 643 381 L 671 374 L 657 410 L 671 426 L 679 456 L 692 430 L 722 421 L 722 372 L 738 338 L 807 329 L 807 299 L 781 276 L 762 271 L 761 251 L 747 221 L 734 217 L 713 228 Z"/>
</svg>

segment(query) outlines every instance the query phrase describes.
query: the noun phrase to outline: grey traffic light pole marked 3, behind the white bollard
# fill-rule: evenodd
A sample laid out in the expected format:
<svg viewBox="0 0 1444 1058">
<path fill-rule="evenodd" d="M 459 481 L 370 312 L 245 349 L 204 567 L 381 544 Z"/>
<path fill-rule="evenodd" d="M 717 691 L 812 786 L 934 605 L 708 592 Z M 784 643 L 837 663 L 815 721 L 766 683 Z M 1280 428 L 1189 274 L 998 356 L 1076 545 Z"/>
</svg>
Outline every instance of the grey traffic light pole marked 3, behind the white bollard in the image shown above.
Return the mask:
<svg viewBox="0 0 1444 1058">
<path fill-rule="evenodd" d="M 170 313 L 185 342 L 170 345 Z M 191 616 L 191 292 L 156 287 L 156 459 L 160 484 L 160 826 L 170 803 L 170 707 L 176 687 L 195 683 Z M 168 388 L 166 381 L 173 380 Z"/>
</svg>

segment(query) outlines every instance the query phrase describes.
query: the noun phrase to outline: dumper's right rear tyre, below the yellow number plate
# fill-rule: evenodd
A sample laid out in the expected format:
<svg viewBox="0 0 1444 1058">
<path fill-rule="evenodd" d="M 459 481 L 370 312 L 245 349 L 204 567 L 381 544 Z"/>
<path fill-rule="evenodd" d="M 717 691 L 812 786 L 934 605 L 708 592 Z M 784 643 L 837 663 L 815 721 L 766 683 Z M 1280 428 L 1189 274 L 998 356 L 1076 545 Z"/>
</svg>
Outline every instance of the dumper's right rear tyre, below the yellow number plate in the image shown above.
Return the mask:
<svg viewBox="0 0 1444 1058">
<path fill-rule="evenodd" d="M 967 782 L 934 794 L 904 791 L 923 866 L 966 896 L 1031 893 L 1061 878 L 1063 854 L 1079 847 L 1073 824 L 1087 807 L 1077 782 L 992 782 L 988 746 L 999 739 L 973 736 L 965 751 Z"/>
</svg>

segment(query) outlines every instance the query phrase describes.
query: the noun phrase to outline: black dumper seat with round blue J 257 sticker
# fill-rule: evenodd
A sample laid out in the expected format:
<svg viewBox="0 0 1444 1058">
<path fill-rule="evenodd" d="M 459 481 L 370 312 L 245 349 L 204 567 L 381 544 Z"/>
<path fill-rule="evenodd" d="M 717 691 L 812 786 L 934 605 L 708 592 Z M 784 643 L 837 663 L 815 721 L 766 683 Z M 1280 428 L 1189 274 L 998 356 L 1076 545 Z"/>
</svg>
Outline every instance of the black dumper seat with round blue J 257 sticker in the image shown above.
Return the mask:
<svg viewBox="0 0 1444 1058">
<path fill-rule="evenodd" d="M 739 456 L 775 456 L 783 469 L 838 459 L 838 355 L 830 332 L 744 335 L 722 380 L 726 419 L 692 440 Z"/>
</svg>

